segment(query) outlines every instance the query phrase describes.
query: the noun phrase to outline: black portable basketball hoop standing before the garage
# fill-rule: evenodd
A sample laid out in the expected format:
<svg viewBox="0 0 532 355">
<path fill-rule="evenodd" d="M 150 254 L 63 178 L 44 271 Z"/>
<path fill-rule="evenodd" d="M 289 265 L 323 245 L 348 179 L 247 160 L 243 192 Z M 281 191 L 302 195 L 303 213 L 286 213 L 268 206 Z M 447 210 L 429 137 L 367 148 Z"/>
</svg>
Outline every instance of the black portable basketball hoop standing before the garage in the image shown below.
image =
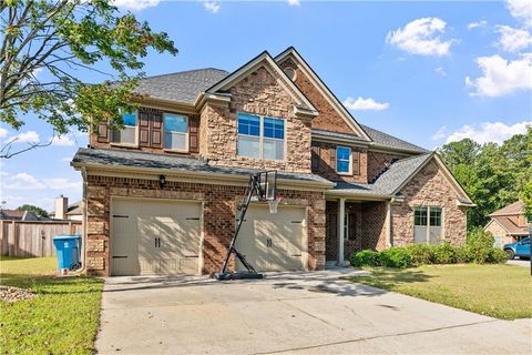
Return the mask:
<svg viewBox="0 0 532 355">
<path fill-rule="evenodd" d="M 244 217 L 246 216 L 247 209 L 249 207 L 249 203 L 254 196 L 257 196 L 259 201 L 264 201 L 267 197 L 267 184 L 265 185 L 266 191 L 260 185 L 262 176 L 265 176 L 266 181 L 268 180 L 268 173 L 274 174 L 274 186 L 273 192 L 276 192 L 276 184 L 277 184 L 277 174 L 276 172 L 264 172 L 264 173 L 256 173 L 249 176 L 249 182 L 247 184 L 246 195 L 243 202 L 237 206 L 237 224 L 235 229 L 235 233 L 233 234 L 233 239 L 231 240 L 229 247 L 227 248 L 227 255 L 225 256 L 224 264 L 222 266 L 222 271 L 219 273 L 213 273 L 211 276 L 216 280 L 236 280 L 236 278 L 263 278 L 263 274 L 257 273 L 255 267 L 246 261 L 246 257 L 238 252 L 235 247 L 236 239 L 238 237 L 238 233 L 241 232 L 242 224 L 244 223 Z M 227 272 L 227 265 L 229 263 L 231 254 L 235 253 L 235 256 L 241 261 L 241 263 L 247 268 L 247 273 L 239 273 L 239 272 Z"/>
</svg>

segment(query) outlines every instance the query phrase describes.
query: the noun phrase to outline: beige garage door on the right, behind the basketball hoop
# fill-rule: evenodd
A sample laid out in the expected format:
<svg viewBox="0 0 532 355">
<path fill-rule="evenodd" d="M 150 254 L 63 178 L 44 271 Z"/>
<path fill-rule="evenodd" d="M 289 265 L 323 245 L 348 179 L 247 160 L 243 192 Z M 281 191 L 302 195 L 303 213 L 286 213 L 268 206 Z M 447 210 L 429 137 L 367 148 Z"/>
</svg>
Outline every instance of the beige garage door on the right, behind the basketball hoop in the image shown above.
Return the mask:
<svg viewBox="0 0 532 355">
<path fill-rule="evenodd" d="M 305 207 L 250 205 L 236 241 L 237 250 L 257 271 L 304 268 Z M 239 262 L 237 270 L 245 270 Z"/>
</svg>

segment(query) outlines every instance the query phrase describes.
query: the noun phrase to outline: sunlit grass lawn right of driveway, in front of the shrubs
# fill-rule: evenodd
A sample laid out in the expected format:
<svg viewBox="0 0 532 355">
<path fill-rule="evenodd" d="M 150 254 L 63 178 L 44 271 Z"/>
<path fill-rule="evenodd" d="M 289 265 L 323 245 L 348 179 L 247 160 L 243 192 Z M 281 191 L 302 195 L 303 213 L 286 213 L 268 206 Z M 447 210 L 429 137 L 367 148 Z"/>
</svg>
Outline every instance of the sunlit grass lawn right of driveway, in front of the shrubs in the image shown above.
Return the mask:
<svg viewBox="0 0 532 355">
<path fill-rule="evenodd" d="M 501 318 L 532 317 L 530 270 L 512 265 L 365 267 L 350 281 Z"/>
</svg>

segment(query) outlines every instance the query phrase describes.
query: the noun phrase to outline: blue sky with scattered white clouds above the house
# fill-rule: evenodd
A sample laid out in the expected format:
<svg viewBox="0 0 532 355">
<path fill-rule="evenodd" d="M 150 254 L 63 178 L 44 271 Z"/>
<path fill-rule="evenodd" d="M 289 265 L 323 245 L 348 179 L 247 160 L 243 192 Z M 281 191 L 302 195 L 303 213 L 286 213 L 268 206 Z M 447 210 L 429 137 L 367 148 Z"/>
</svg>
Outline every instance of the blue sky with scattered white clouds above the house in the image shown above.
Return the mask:
<svg viewBox="0 0 532 355">
<path fill-rule="evenodd" d="M 147 75 L 200 68 L 235 70 L 264 50 L 289 45 L 361 123 L 427 149 L 470 138 L 501 143 L 532 124 L 532 1 L 319 2 L 305 0 L 116 0 L 167 32 L 176 57 L 150 53 Z M 79 72 L 82 80 L 94 74 Z M 52 129 L 32 115 L 0 140 L 47 142 Z M 81 199 L 70 166 L 84 133 L 0 160 L 0 202 L 52 210 Z"/>
</svg>

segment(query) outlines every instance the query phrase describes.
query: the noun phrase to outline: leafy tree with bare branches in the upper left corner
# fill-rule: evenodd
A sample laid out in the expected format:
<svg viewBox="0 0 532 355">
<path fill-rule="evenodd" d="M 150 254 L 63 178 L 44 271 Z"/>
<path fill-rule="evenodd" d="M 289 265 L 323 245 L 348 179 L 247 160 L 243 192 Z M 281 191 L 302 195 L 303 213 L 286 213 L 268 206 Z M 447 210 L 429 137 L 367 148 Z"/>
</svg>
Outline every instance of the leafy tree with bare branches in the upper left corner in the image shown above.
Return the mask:
<svg viewBox="0 0 532 355">
<path fill-rule="evenodd" d="M 0 2 L 0 121 L 18 130 L 32 112 L 57 134 L 108 121 L 122 126 L 150 49 L 177 53 L 111 0 L 2 0 Z M 106 75 L 85 83 L 78 70 Z M 9 142 L 8 142 L 9 143 Z M 12 143 L 12 142 L 11 142 Z M 6 155 L 6 154 L 3 154 Z M 6 158 L 6 156 L 4 156 Z"/>
</svg>

